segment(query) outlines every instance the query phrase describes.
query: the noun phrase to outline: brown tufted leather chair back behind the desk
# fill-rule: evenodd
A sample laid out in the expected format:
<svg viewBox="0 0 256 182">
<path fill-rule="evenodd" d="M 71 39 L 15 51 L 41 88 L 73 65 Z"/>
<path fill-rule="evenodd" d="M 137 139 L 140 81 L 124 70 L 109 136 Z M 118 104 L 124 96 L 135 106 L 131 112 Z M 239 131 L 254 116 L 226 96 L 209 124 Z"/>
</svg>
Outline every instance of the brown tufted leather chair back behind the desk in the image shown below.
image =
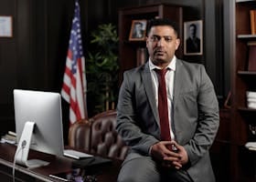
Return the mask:
<svg viewBox="0 0 256 182">
<path fill-rule="evenodd" d="M 77 121 L 69 127 L 69 147 L 123 160 L 128 147 L 115 131 L 115 126 L 115 110 L 105 111 L 90 120 Z"/>
</svg>

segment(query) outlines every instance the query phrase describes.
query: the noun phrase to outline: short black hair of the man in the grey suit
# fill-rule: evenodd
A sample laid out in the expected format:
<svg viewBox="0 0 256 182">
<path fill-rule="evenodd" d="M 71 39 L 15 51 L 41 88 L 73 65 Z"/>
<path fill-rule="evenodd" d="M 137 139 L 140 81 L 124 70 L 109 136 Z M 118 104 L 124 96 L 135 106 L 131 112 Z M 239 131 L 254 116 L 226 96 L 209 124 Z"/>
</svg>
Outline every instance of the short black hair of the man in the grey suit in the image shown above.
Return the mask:
<svg viewBox="0 0 256 182">
<path fill-rule="evenodd" d="M 156 26 L 156 25 L 169 25 L 169 26 L 171 26 L 172 28 L 174 28 L 175 33 L 178 37 L 178 26 L 176 25 L 176 22 L 174 22 L 170 19 L 167 19 L 167 18 L 154 18 L 154 19 L 148 20 L 147 25 L 146 25 L 146 35 L 148 35 L 151 28 L 153 26 Z"/>
</svg>

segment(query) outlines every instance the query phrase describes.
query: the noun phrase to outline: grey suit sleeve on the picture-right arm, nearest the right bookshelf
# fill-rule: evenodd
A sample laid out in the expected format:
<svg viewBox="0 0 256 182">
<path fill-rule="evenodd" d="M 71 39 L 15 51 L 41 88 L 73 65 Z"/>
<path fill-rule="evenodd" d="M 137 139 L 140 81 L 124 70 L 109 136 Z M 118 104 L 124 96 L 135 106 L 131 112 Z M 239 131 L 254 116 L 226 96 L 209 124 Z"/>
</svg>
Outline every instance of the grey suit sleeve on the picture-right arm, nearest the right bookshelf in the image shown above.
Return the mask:
<svg viewBox="0 0 256 182">
<path fill-rule="evenodd" d="M 184 146 L 191 165 L 208 152 L 219 128 L 219 103 L 214 87 L 204 66 L 200 66 L 197 73 L 197 129 L 192 139 Z"/>
</svg>

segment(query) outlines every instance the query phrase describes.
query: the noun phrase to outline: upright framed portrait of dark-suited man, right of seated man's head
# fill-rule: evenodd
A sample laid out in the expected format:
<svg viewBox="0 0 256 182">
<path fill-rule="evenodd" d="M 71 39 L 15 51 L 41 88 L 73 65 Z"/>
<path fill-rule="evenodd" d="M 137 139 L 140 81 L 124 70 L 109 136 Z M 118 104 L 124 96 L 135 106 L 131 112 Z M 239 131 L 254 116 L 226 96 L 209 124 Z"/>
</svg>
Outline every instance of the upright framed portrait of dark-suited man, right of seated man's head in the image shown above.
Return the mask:
<svg viewBox="0 0 256 182">
<path fill-rule="evenodd" d="M 184 22 L 184 55 L 203 55 L 203 21 Z"/>
</svg>

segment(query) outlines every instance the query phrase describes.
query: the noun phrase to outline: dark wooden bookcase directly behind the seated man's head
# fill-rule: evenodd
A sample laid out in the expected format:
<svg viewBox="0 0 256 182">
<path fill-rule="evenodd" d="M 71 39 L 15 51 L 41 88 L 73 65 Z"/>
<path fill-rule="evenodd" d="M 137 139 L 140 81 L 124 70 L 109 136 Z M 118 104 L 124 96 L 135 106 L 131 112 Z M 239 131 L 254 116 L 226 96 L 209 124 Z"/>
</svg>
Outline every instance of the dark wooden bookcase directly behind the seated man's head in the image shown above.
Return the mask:
<svg viewBox="0 0 256 182">
<path fill-rule="evenodd" d="M 152 19 L 155 17 L 166 17 L 176 22 L 179 28 L 179 37 L 183 38 L 183 7 L 169 4 L 142 5 L 128 7 L 119 10 L 119 62 L 120 62 L 120 83 L 123 79 L 123 72 L 135 66 L 139 66 L 137 60 L 138 49 L 145 47 L 145 41 L 129 41 L 129 34 L 133 20 Z M 183 56 L 182 45 L 176 51 L 176 56 Z"/>
</svg>

